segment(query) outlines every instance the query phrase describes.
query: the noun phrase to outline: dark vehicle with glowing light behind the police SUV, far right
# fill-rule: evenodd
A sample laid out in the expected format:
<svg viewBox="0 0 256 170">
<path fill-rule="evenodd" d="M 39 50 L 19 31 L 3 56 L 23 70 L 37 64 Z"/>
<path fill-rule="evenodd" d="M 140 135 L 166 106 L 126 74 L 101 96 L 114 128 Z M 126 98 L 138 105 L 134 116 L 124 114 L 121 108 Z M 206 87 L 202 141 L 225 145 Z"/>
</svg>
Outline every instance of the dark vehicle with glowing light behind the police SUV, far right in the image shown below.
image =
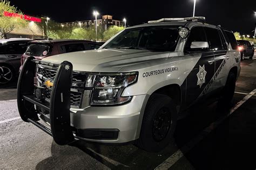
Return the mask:
<svg viewBox="0 0 256 170">
<path fill-rule="evenodd" d="M 244 60 L 245 57 L 249 57 L 250 59 L 252 59 L 254 55 L 254 46 L 251 45 L 251 43 L 247 40 L 238 40 L 237 43 L 238 48 L 241 52 L 241 60 Z"/>
</svg>

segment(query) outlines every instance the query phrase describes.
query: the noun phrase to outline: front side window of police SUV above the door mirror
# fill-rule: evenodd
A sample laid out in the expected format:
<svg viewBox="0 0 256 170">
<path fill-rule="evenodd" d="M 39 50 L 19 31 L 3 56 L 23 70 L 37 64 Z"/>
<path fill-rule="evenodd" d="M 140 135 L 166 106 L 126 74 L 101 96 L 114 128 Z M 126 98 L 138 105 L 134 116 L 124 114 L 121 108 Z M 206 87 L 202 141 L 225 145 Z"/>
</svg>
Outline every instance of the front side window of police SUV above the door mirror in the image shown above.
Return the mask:
<svg viewBox="0 0 256 170">
<path fill-rule="evenodd" d="M 203 27 L 196 26 L 191 29 L 190 35 L 187 38 L 187 42 L 185 45 L 185 52 L 207 50 L 207 49 L 191 49 L 190 46 L 192 42 L 207 42 Z"/>
</svg>

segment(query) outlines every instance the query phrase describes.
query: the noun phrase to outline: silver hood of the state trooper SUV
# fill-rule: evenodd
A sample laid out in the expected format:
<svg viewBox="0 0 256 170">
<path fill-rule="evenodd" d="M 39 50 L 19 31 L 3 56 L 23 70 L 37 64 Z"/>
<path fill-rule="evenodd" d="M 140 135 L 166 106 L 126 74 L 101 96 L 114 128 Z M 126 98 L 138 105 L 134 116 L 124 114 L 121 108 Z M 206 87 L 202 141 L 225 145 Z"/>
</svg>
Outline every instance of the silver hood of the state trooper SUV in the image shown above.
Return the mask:
<svg viewBox="0 0 256 170">
<path fill-rule="evenodd" d="M 131 49 L 98 49 L 64 53 L 46 57 L 43 60 L 54 63 L 71 62 L 74 71 L 118 72 L 124 66 L 168 57 L 169 53 Z"/>
</svg>

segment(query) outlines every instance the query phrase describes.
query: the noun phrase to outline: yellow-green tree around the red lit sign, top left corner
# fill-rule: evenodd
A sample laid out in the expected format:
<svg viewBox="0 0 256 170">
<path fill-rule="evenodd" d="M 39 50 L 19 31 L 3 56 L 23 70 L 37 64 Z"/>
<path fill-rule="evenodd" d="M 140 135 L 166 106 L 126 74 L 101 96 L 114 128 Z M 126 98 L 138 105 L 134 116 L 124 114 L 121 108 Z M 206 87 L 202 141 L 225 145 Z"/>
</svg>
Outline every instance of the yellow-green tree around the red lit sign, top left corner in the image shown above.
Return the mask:
<svg viewBox="0 0 256 170">
<path fill-rule="evenodd" d="M 4 12 L 18 13 L 16 17 L 4 16 Z M 20 17 L 18 17 L 20 16 Z M 15 28 L 28 24 L 22 17 L 22 12 L 18 11 L 15 6 L 12 6 L 9 1 L 1 0 L 0 2 L 0 33 L 1 38 L 7 38 L 7 34 Z"/>
</svg>

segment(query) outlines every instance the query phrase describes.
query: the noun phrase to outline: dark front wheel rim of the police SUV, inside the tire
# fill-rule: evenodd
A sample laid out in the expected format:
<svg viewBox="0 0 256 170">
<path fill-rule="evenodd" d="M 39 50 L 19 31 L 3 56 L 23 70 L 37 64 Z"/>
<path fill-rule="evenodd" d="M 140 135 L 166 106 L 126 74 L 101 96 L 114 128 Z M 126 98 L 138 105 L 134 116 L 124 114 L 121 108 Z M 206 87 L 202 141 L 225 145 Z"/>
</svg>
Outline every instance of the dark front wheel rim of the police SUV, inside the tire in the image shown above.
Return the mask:
<svg viewBox="0 0 256 170">
<path fill-rule="evenodd" d="M 172 118 L 170 111 L 165 107 L 161 108 L 153 119 L 153 139 L 158 142 L 164 140 L 170 131 L 171 125 Z"/>
</svg>

